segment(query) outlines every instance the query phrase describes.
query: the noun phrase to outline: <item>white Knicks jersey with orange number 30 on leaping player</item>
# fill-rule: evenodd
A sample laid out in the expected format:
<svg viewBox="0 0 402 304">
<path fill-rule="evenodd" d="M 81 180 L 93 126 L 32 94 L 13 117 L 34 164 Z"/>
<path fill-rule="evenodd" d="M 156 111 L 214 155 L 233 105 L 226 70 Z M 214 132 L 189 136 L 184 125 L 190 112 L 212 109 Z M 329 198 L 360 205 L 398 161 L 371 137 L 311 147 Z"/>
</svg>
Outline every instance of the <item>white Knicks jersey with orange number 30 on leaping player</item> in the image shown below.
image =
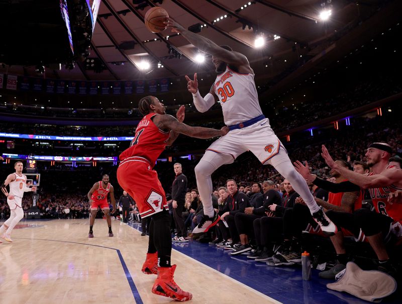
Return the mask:
<svg viewBox="0 0 402 304">
<path fill-rule="evenodd" d="M 240 74 L 228 66 L 214 84 L 227 126 L 243 123 L 262 115 L 255 88 L 254 74 Z"/>
</svg>

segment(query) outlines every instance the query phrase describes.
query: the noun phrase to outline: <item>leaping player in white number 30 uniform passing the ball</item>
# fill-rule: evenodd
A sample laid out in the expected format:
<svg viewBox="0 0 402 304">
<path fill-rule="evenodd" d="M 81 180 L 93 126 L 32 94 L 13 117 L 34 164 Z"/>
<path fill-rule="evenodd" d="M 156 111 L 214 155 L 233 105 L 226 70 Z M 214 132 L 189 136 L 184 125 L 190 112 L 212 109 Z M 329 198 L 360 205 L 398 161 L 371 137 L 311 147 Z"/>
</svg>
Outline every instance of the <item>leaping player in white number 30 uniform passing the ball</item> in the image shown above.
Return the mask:
<svg viewBox="0 0 402 304">
<path fill-rule="evenodd" d="M 306 181 L 293 167 L 287 151 L 272 131 L 258 102 L 254 71 L 247 57 L 234 52 L 229 46 L 219 46 L 213 41 L 184 29 L 172 19 L 165 23 L 172 32 L 179 33 L 200 51 L 212 55 L 218 76 L 210 92 L 202 97 L 198 91 L 197 75 L 191 80 L 186 76 L 187 89 L 192 93 L 195 108 L 208 111 L 218 100 L 222 106 L 229 133 L 215 141 L 195 167 L 199 195 L 204 205 L 204 219 L 193 233 L 208 231 L 219 221 L 212 207 L 211 174 L 224 164 L 233 163 L 242 153 L 251 151 L 261 163 L 271 164 L 302 196 L 315 221 L 323 232 L 336 233 L 336 226 L 318 207 Z"/>
</svg>

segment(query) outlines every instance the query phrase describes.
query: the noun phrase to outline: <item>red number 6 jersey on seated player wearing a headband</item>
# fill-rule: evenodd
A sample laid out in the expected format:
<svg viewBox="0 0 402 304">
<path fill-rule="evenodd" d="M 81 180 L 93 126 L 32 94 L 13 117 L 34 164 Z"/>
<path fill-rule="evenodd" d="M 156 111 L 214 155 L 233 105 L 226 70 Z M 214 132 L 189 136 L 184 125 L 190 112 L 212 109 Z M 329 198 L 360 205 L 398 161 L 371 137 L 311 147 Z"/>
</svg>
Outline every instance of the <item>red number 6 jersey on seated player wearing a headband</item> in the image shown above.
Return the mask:
<svg viewBox="0 0 402 304">
<path fill-rule="evenodd" d="M 393 167 L 388 166 L 386 169 Z M 368 176 L 371 175 L 374 175 L 374 173 L 371 172 L 368 174 Z M 402 204 L 390 204 L 388 202 L 388 194 L 396 190 L 402 189 L 394 185 L 368 189 L 376 212 L 392 218 L 394 222 L 402 222 Z"/>
</svg>

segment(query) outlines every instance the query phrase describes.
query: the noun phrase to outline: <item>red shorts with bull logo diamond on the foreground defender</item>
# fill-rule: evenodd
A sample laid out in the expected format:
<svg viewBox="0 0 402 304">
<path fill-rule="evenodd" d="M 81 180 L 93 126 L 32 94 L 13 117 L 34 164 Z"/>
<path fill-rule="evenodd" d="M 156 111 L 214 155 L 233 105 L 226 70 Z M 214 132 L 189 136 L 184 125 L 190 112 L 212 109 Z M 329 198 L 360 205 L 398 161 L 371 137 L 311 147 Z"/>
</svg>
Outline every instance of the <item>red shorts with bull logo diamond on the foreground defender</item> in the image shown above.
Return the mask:
<svg viewBox="0 0 402 304">
<path fill-rule="evenodd" d="M 141 218 L 167 209 L 166 195 L 158 179 L 158 173 L 152 170 L 145 158 L 135 156 L 123 160 L 117 169 L 117 180 L 134 198 Z"/>
</svg>

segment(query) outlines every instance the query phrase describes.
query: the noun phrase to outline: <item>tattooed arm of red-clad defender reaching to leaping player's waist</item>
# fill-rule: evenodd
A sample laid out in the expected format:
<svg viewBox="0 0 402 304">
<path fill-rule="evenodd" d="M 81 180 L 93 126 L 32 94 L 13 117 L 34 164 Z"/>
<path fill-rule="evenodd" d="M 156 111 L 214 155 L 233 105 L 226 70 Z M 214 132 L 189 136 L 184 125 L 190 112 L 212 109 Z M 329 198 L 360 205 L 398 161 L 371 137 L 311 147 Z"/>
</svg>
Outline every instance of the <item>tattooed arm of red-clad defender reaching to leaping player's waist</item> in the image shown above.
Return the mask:
<svg viewBox="0 0 402 304">
<path fill-rule="evenodd" d="M 190 127 L 186 124 L 180 123 L 171 115 L 157 115 L 154 118 L 154 123 L 159 129 L 169 129 L 190 137 L 208 139 L 217 136 L 224 136 L 229 132 L 228 127 L 223 127 L 221 130 L 203 128 L 203 127 Z M 166 145 L 169 145 L 169 140 Z"/>
</svg>

